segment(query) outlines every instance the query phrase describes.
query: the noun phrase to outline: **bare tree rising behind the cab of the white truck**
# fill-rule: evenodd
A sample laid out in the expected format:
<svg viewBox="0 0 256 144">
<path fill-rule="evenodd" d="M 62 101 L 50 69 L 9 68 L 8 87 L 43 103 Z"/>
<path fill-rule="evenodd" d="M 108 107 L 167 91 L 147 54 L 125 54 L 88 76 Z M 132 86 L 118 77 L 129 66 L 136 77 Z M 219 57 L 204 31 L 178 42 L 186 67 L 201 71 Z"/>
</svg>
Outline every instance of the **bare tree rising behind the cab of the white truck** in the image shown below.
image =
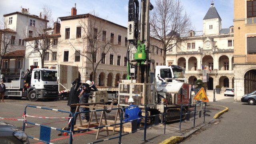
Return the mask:
<svg viewBox="0 0 256 144">
<path fill-rule="evenodd" d="M 33 30 L 33 36 L 26 38 L 26 51 L 29 53 L 27 57 L 39 56 L 41 60 L 41 67 L 44 67 L 44 60 L 49 56 L 48 52 L 52 52 L 52 47 L 56 46 L 60 35 L 53 35 L 49 29 L 52 27 L 52 10 L 49 6 L 44 5 L 42 8 L 42 16 L 44 21 L 39 23 L 38 27 Z M 40 14 L 41 17 L 41 14 Z M 57 40 L 57 41 L 56 41 Z"/>
</svg>

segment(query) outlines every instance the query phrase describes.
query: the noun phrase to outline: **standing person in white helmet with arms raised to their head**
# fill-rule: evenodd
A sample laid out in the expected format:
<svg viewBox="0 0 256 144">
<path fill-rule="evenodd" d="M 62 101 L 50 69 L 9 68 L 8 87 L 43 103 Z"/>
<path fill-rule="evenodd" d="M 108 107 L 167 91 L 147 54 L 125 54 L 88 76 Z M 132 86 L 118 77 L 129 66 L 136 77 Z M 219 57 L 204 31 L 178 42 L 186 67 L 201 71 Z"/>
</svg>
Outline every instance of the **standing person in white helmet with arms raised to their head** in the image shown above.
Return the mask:
<svg viewBox="0 0 256 144">
<path fill-rule="evenodd" d="M 88 103 L 91 91 L 98 91 L 98 89 L 96 88 L 96 86 L 94 86 L 94 82 L 87 80 L 84 86 L 82 86 L 81 92 L 78 96 L 80 98 L 79 100 L 80 104 Z M 90 108 L 80 107 L 80 112 L 85 112 L 89 110 Z M 88 122 L 90 120 L 90 112 L 81 113 L 81 119 L 83 122 Z"/>
</svg>

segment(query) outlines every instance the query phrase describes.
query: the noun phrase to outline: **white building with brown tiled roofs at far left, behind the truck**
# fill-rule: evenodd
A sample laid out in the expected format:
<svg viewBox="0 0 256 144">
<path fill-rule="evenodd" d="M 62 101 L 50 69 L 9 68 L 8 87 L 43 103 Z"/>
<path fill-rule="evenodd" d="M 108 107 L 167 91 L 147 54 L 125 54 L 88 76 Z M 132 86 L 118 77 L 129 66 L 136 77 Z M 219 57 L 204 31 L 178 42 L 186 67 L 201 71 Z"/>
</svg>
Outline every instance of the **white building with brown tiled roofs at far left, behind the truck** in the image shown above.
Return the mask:
<svg viewBox="0 0 256 144">
<path fill-rule="evenodd" d="M 1 74 L 4 82 L 16 80 L 20 70 L 26 70 L 25 38 L 38 36 L 38 29 L 46 26 L 46 18 L 30 14 L 28 9 L 22 8 L 21 12 L 4 14 L 4 29 L 0 30 L 2 56 Z M 7 47 L 6 47 L 7 46 Z M 6 49 L 6 52 L 4 52 Z M 28 67 L 29 68 L 29 67 Z"/>
</svg>

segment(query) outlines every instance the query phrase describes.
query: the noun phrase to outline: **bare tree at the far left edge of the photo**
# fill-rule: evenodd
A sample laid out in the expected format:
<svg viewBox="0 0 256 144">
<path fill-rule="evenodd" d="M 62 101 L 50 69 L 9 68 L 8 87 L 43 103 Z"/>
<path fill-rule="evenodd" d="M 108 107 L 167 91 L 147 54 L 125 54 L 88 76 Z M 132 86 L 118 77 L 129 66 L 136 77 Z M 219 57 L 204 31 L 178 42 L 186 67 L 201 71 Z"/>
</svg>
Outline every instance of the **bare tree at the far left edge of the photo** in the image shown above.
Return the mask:
<svg viewBox="0 0 256 144">
<path fill-rule="evenodd" d="M 15 35 L 16 32 L 8 28 L 8 20 L 3 18 L 0 26 L 0 68 L 2 68 L 4 56 L 15 50 Z"/>
</svg>

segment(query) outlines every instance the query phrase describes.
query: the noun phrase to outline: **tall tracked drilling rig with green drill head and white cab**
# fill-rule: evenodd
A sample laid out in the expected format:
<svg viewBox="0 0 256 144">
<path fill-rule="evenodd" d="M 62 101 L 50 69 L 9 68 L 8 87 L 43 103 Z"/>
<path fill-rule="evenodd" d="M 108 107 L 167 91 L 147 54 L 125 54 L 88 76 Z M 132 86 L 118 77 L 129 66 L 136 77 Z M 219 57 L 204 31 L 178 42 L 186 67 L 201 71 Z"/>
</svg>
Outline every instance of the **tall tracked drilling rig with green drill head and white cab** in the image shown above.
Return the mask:
<svg viewBox="0 0 256 144">
<path fill-rule="evenodd" d="M 128 9 L 128 51 L 127 80 L 119 83 L 118 104 L 128 106 L 128 98 L 136 105 L 155 105 L 149 108 L 149 115 L 164 113 L 167 121 L 180 119 L 180 107 L 189 104 L 190 86 L 185 83 L 184 70 L 180 66 L 156 66 L 154 83 L 150 82 L 150 24 L 149 12 L 154 7 L 150 0 L 129 0 Z M 139 20 L 140 15 L 140 20 Z M 188 106 L 184 106 L 183 111 Z M 185 116 L 183 116 L 185 117 Z"/>
</svg>

